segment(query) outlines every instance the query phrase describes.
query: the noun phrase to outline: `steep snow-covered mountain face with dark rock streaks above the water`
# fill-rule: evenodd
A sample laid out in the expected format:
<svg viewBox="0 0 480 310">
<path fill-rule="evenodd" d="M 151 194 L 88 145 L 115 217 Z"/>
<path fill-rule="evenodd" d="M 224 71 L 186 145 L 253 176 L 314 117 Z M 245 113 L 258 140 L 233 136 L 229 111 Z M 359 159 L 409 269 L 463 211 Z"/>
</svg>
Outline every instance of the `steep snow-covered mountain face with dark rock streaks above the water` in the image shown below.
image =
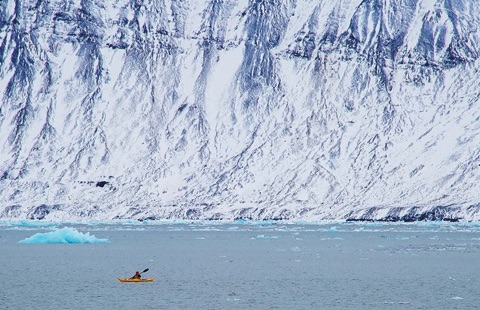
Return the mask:
<svg viewBox="0 0 480 310">
<path fill-rule="evenodd" d="M 4 0 L 0 218 L 480 219 L 472 0 Z"/>
</svg>

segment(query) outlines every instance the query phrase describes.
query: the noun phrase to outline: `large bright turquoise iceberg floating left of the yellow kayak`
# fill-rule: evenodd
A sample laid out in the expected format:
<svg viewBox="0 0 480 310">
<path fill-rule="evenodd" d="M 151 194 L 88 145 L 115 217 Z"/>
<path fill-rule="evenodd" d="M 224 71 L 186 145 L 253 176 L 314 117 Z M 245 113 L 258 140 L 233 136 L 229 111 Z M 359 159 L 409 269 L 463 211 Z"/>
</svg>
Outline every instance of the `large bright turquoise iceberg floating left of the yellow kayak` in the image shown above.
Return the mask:
<svg viewBox="0 0 480 310">
<path fill-rule="evenodd" d="M 48 233 L 37 233 L 29 238 L 19 241 L 25 244 L 51 244 L 51 243 L 110 243 L 108 239 L 99 239 L 90 233 L 81 233 L 75 228 L 63 227 Z"/>
</svg>

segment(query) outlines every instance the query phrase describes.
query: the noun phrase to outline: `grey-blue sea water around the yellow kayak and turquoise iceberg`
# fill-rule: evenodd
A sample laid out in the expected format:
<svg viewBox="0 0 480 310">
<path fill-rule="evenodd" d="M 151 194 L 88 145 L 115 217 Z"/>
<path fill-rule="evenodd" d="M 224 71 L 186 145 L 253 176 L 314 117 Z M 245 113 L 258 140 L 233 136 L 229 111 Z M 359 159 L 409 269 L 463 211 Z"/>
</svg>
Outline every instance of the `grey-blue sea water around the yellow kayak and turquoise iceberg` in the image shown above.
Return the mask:
<svg viewBox="0 0 480 310">
<path fill-rule="evenodd" d="M 19 243 L 65 225 L 110 243 Z M 0 223 L 0 268 L 0 309 L 478 309 L 480 224 Z"/>
</svg>

